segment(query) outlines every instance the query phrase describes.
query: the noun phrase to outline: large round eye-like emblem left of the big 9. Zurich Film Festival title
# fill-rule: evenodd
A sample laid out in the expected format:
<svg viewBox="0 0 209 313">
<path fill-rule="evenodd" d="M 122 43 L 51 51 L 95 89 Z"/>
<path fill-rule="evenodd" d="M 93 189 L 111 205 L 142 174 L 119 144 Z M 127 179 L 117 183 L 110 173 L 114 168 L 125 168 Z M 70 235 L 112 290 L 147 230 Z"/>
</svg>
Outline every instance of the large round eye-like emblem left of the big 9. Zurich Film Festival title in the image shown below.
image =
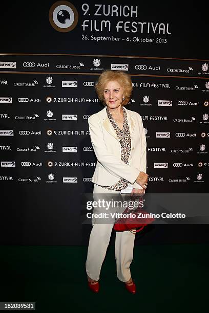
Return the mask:
<svg viewBox="0 0 209 313">
<path fill-rule="evenodd" d="M 49 21 L 58 32 L 70 32 L 78 23 L 78 11 L 68 1 L 57 1 L 49 10 Z"/>
</svg>

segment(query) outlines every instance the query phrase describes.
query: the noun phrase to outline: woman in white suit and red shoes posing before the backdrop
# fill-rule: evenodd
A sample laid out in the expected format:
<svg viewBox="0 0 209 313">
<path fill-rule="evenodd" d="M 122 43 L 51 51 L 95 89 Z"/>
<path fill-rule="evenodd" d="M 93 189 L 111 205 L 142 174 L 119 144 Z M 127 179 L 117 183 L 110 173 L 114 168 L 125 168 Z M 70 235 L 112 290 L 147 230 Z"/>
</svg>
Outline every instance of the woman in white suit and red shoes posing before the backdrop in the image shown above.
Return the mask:
<svg viewBox="0 0 209 313">
<path fill-rule="evenodd" d="M 92 146 L 97 158 L 92 177 L 93 194 L 116 193 L 127 187 L 131 195 L 143 193 L 148 185 L 146 138 L 141 117 L 124 108 L 133 90 L 128 74 L 121 71 L 103 72 L 95 86 L 98 98 L 105 108 L 89 117 Z M 114 223 L 93 225 L 88 247 L 86 272 L 88 285 L 99 291 L 99 275 L 105 259 Z M 131 278 L 135 234 L 116 232 L 115 258 L 117 277 L 127 290 L 136 293 Z"/>
</svg>

